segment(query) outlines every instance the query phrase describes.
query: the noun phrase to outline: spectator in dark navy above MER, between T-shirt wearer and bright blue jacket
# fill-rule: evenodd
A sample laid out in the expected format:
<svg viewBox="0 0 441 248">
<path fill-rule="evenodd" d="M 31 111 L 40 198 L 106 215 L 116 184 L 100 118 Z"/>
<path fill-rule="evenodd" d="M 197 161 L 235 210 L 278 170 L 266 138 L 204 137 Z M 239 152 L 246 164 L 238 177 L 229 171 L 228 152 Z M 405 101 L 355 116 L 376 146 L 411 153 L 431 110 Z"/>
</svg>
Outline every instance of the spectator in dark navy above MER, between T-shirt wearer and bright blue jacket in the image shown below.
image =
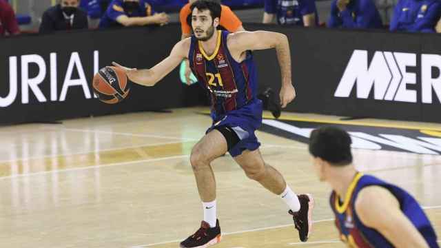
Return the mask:
<svg viewBox="0 0 441 248">
<path fill-rule="evenodd" d="M 329 28 L 382 28 L 380 13 L 373 0 L 334 0 Z"/>
</svg>

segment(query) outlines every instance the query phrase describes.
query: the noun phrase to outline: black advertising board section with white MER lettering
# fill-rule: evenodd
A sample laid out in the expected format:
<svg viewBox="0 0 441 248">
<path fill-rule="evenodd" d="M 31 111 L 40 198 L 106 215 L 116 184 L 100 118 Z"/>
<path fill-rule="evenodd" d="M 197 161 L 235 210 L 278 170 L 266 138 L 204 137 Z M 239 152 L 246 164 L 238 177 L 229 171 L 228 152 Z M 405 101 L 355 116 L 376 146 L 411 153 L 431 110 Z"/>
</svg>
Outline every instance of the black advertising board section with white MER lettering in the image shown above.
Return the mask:
<svg viewBox="0 0 441 248">
<path fill-rule="evenodd" d="M 441 36 L 247 25 L 283 32 L 297 98 L 288 111 L 441 122 Z M 276 53 L 256 52 L 260 89 L 280 88 Z"/>
</svg>

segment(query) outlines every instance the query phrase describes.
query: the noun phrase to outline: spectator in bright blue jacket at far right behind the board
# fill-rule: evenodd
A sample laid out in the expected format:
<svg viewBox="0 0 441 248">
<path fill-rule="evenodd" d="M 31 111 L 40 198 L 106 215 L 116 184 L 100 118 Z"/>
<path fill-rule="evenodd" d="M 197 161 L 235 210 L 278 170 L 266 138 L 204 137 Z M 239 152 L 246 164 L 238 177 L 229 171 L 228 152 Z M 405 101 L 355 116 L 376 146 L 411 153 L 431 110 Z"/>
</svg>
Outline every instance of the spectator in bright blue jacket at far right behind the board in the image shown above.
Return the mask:
<svg viewBox="0 0 441 248">
<path fill-rule="evenodd" d="M 393 11 L 389 30 L 435 32 L 440 10 L 439 0 L 400 0 Z"/>
</svg>

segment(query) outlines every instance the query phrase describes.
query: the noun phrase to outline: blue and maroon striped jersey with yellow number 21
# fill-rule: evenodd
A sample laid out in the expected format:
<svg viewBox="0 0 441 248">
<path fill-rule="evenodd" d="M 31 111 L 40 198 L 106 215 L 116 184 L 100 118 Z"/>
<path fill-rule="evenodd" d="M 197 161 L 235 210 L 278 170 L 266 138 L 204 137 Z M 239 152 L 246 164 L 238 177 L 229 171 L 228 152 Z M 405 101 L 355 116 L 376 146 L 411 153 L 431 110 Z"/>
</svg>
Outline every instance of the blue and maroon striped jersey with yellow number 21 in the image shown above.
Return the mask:
<svg viewBox="0 0 441 248">
<path fill-rule="evenodd" d="M 257 73 L 252 53 L 247 51 L 244 61 L 235 61 L 227 47 L 228 34 L 218 30 L 216 50 L 211 56 L 192 36 L 188 54 L 190 68 L 198 82 L 209 91 L 215 116 L 238 110 L 256 98 Z"/>
</svg>

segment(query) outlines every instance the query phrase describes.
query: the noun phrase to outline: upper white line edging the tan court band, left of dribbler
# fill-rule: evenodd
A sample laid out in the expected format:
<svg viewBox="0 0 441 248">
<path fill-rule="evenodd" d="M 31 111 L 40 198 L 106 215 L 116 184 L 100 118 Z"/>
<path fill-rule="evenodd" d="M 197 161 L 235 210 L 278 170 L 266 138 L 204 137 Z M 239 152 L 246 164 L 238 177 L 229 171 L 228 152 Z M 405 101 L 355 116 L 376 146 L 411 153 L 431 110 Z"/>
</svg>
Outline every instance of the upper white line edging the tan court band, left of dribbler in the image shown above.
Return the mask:
<svg viewBox="0 0 441 248">
<path fill-rule="evenodd" d="M 17 159 L 10 159 L 10 160 L 0 160 L 0 163 L 12 163 L 12 162 L 19 162 L 19 161 L 28 161 L 31 159 L 43 159 L 43 158 L 56 158 L 59 156 L 73 156 L 73 155 L 80 155 L 80 154 L 95 154 L 99 152 L 109 152 L 119 149 L 130 149 L 130 148 L 141 148 L 141 147 L 152 147 L 157 145 L 170 145 L 170 144 L 178 144 L 178 143 L 187 143 L 187 142 L 196 142 L 198 140 L 192 140 L 192 141 L 169 141 L 169 142 L 161 142 L 161 143 L 145 143 L 145 144 L 139 144 L 139 145 L 127 145 L 122 147 L 111 147 L 111 148 L 105 148 L 105 149 L 93 149 L 90 151 L 83 151 L 83 152 L 72 152 L 72 153 L 59 153 L 59 154 L 51 154 L 51 155 L 43 155 L 43 156 L 30 156 L 28 158 L 17 158 Z"/>
</svg>

